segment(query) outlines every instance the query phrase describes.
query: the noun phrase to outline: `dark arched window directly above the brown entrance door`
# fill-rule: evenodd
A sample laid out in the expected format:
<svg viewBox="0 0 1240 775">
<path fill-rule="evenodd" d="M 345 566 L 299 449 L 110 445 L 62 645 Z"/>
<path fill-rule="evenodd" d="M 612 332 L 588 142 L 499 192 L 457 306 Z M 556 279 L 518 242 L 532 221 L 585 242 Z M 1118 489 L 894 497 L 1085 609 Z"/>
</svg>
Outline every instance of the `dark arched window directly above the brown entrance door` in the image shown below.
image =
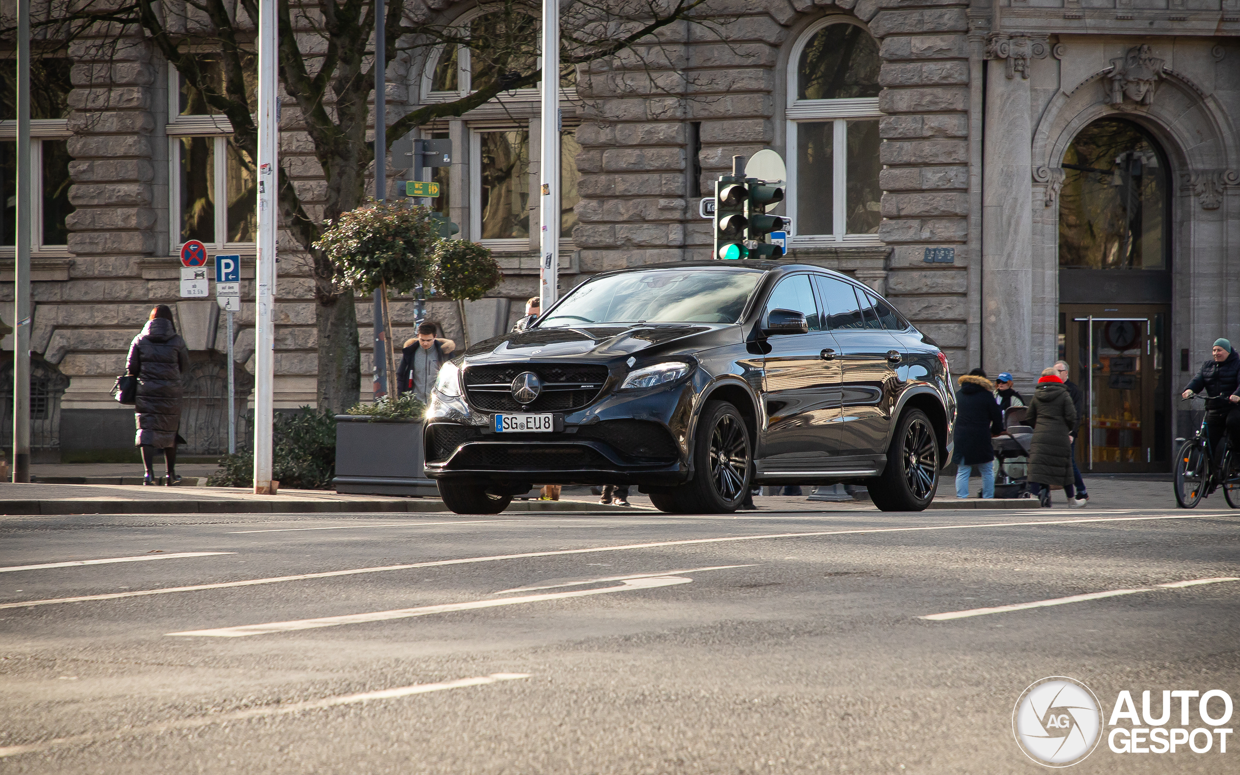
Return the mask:
<svg viewBox="0 0 1240 775">
<path fill-rule="evenodd" d="M 1101 119 L 1064 153 L 1059 265 L 1167 269 L 1167 157 L 1145 129 Z"/>
</svg>

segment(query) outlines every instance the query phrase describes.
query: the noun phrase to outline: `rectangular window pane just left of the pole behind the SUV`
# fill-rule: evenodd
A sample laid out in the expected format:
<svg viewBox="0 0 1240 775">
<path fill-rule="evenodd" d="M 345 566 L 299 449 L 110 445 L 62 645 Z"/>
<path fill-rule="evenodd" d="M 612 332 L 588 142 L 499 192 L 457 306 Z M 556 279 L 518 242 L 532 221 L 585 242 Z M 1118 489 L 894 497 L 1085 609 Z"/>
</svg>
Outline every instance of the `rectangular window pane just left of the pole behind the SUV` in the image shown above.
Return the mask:
<svg viewBox="0 0 1240 775">
<path fill-rule="evenodd" d="M 475 133 L 479 151 L 479 207 L 472 233 L 480 239 L 529 237 L 529 131 Z"/>
</svg>

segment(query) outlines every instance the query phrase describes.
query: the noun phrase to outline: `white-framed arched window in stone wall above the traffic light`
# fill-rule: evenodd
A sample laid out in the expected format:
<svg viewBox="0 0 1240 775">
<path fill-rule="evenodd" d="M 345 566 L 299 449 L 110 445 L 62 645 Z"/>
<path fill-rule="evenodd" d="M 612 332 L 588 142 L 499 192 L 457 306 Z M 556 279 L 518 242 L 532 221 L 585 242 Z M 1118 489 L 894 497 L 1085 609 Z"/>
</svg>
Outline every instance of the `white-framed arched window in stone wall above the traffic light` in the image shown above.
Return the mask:
<svg viewBox="0 0 1240 775">
<path fill-rule="evenodd" d="M 789 61 L 789 210 L 795 243 L 877 242 L 878 43 L 851 19 L 806 30 Z"/>
</svg>

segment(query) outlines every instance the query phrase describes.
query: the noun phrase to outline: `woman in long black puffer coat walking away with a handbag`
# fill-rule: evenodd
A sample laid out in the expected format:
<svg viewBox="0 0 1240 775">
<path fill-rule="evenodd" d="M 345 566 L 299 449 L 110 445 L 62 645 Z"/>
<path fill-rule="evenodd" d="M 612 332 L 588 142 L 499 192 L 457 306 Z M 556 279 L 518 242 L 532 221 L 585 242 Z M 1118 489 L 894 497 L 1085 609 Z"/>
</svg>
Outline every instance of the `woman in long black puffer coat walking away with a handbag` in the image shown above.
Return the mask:
<svg viewBox="0 0 1240 775">
<path fill-rule="evenodd" d="M 167 480 L 172 486 L 176 475 L 176 444 L 181 427 L 181 374 L 190 367 L 190 350 L 172 325 L 172 310 L 160 304 L 151 310 L 143 332 L 129 346 L 126 372 L 138 377 L 134 409 L 138 412 L 138 434 L 134 444 L 143 453 L 146 467 L 144 485 L 155 484 L 155 450 L 164 450 Z"/>
</svg>

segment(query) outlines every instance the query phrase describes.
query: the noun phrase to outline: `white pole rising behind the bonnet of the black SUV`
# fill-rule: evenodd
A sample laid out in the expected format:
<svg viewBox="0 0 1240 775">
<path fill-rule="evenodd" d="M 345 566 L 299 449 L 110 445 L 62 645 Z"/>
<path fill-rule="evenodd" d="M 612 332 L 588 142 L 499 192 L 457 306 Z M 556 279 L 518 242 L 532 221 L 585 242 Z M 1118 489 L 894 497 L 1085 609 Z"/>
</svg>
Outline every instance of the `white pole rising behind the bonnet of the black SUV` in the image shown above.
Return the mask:
<svg viewBox="0 0 1240 775">
<path fill-rule="evenodd" d="M 538 296 L 542 310 L 556 303 L 559 283 L 559 0 L 543 0 L 542 30 L 542 231 Z"/>
</svg>

